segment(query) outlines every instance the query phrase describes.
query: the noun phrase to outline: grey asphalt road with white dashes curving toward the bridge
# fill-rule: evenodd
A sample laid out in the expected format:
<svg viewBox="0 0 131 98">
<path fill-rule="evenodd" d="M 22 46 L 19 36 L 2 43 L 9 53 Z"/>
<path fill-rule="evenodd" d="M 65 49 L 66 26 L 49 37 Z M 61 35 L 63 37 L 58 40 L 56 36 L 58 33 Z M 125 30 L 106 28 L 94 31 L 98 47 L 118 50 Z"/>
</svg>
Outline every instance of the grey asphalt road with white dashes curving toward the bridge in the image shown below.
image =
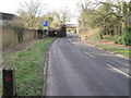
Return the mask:
<svg viewBox="0 0 131 98">
<path fill-rule="evenodd" d="M 51 45 L 46 96 L 129 96 L 129 78 L 128 59 L 69 34 Z"/>
</svg>

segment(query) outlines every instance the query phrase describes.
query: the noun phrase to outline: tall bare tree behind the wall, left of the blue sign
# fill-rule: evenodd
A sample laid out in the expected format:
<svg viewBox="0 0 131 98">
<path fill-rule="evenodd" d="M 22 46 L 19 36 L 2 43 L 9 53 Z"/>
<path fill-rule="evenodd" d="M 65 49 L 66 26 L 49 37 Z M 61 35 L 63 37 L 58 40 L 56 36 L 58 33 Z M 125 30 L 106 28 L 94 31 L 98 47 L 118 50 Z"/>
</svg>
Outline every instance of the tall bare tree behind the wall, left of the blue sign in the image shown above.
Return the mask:
<svg viewBox="0 0 131 98">
<path fill-rule="evenodd" d="M 41 13 L 41 3 L 31 0 L 29 2 L 20 3 L 21 8 L 17 11 L 20 23 L 23 23 L 26 28 L 34 29 L 36 27 L 37 17 Z"/>
</svg>

